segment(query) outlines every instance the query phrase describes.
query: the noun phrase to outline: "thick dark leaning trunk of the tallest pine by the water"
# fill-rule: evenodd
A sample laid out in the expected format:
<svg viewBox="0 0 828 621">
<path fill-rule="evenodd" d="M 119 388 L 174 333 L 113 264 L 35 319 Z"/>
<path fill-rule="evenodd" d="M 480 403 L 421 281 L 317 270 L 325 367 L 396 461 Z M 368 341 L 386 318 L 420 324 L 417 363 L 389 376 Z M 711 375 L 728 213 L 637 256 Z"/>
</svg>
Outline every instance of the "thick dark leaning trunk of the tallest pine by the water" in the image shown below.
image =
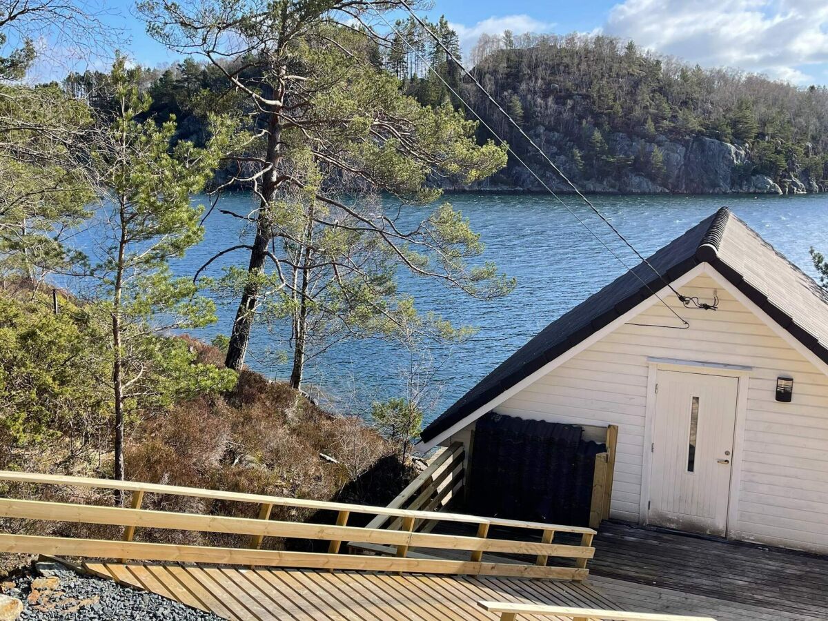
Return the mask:
<svg viewBox="0 0 828 621">
<path fill-rule="evenodd" d="M 248 351 L 250 332 L 253 329 L 253 321 L 256 318 L 256 307 L 258 306 L 259 283 L 258 276 L 264 273 L 264 264 L 267 259 L 267 244 L 272 238 L 270 221 L 270 204 L 277 190 L 277 167 L 282 157 L 282 122 L 280 118 L 281 108 L 270 113 L 267 128 L 270 132 L 267 137 L 267 161 L 272 164 L 271 170 L 263 177 L 262 200 L 259 204 L 258 216 L 256 218 L 256 239 L 253 241 L 253 249 L 250 251 L 250 263 L 248 264 L 248 284 L 244 287 L 241 301 L 238 303 L 236 319 L 233 321 L 233 330 L 230 332 L 230 340 L 227 347 L 227 355 L 224 357 L 224 366 L 234 371 L 241 371 L 244 364 L 244 356 Z"/>
</svg>

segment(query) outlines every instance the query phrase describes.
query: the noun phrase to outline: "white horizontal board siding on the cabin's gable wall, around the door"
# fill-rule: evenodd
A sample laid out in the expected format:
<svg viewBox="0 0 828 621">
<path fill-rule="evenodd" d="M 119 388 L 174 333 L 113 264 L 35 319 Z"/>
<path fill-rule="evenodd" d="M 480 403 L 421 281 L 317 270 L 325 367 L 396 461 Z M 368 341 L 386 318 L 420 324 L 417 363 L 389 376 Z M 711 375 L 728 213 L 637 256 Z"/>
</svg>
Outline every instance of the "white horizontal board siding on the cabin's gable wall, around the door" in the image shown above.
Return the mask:
<svg viewBox="0 0 828 621">
<path fill-rule="evenodd" d="M 828 378 L 708 276 L 681 293 L 719 309 L 688 310 L 667 303 L 690 321 L 678 325 L 662 304 L 510 397 L 496 409 L 510 416 L 582 425 L 619 426 L 612 517 L 638 521 L 642 494 L 647 357 L 703 360 L 752 367 L 743 433 L 739 538 L 828 551 Z M 794 378 L 792 403 L 775 401 L 776 378 Z M 646 490 L 645 490 L 646 493 Z"/>
</svg>

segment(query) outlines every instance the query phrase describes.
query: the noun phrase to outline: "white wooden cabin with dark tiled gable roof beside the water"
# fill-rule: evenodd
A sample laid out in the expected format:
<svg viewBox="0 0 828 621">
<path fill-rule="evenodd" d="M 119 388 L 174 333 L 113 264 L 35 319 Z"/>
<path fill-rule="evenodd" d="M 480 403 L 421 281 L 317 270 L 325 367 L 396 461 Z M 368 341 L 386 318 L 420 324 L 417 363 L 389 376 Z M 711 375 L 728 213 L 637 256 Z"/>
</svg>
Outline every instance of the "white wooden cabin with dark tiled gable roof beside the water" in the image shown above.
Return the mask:
<svg viewBox="0 0 828 621">
<path fill-rule="evenodd" d="M 642 263 L 554 321 L 418 448 L 492 411 L 617 425 L 611 518 L 828 553 L 826 292 L 728 209 L 648 262 L 662 277 Z"/>
</svg>

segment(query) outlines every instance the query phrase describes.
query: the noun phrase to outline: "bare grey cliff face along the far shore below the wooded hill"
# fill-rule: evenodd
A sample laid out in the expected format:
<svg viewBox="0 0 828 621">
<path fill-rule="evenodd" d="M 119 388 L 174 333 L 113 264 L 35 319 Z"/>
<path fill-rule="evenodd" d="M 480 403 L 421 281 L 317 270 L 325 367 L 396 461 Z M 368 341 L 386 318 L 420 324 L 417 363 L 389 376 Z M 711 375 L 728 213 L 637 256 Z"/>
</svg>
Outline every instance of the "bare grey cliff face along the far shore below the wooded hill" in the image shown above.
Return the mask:
<svg viewBox="0 0 828 621">
<path fill-rule="evenodd" d="M 661 153 L 662 171 L 653 173 L 647 166 L 628 166 L 617 174 L 590 174 L 588 166 L 575 166 L 571 156 L 575 144 L 557 132 L 538 128 L 532 138 L 546 155 L 577 185 L 580 190 L 609 194 L 806 194 L 825 191 L 807 178 L 802 171 L 782 174 L 779 182 L 769 176 L 753 173 L 749 147 L 697 136 L 686 142 L 672 142 L 664 136 L 632 137 L 623 133 L 609 136 L 609 152 L 613 156 L 635 162 L 652 161 L 657 148 Z M 552 190 L 570 190 L 540 157 L 524 156 L 532 168 Z M 474 187 L 455 190 L 527 190 L 542 191 L 537 181 L 517 161 L 510 161 L 507 171 L 493 180 Z"/>
</svg>

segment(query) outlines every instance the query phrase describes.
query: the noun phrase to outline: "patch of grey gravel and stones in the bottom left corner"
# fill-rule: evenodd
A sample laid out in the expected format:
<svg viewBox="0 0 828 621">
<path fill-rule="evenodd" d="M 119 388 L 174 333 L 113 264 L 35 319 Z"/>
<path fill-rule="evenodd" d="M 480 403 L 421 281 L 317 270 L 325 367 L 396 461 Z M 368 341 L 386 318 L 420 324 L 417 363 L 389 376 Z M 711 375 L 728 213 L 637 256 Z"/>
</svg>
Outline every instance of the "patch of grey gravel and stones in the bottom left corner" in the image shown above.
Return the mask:
<svg viewBox="0 0 828 621">
<path fill-rule="evenodd" d="M 2 592 L 23 602 L 19 621 L 221 621 L 215 614 L 192 609 L 155 593 L 121 586 L 113 580 L 79 575 L 70 569 L 46 573 L 48 577 L 29 571 L 3 582 Z"/>
</svg>

